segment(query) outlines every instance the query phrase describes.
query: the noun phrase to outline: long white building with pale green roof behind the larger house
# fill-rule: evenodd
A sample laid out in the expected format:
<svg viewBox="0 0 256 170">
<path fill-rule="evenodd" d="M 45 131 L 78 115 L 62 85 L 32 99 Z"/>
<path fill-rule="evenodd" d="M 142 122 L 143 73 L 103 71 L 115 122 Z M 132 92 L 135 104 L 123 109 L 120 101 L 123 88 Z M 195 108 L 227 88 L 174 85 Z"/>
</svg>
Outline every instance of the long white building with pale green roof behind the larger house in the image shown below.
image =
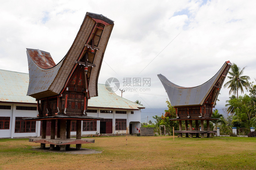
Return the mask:
<svg viewBox="0 0 256 170">
<path fill-rule="evenodd" d="M 40 136 L 40 121 L 24 121 L 24 117 L 38 115 L 35 98 L 26 96 L 29 74 L 0 70 L 0 138 Z M 139 133 L 141 109 L 139 104 L 129 101 L 98 84 L 97 97 L 88 101 L 87 115 L 102 117 L 100 121 L 83 121 L 82 135 Z M 57 125 L 57 123 L 56 123 Z M 50 135 L 47 122 L 46 135 Z M 71 135 L 76 134 L 76 121 L 71 121 Z"/>
</svg>

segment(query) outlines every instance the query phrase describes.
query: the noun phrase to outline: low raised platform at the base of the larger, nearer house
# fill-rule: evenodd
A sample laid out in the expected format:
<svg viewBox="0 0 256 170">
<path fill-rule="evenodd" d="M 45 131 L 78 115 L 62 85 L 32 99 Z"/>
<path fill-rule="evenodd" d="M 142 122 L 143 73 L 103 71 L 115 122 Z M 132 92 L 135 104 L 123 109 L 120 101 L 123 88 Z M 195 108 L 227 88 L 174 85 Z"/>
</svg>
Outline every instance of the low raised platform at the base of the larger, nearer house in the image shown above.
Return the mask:
<svg viewBox="0 0 256 170">
<path fill-rule="evenodd" d="M 35 143 L 44 143 L 44 144 L 56 144 L 56 145 L 64 145 L 64 144 L 85 144 L 85 143 L 94 143 L 94 139 L 76 139 L 76 138 L 70 138 L 70 139 L 41 139 L 41 138 L 29 138 L 29 142 L 35 142 Z"/>
</svg>

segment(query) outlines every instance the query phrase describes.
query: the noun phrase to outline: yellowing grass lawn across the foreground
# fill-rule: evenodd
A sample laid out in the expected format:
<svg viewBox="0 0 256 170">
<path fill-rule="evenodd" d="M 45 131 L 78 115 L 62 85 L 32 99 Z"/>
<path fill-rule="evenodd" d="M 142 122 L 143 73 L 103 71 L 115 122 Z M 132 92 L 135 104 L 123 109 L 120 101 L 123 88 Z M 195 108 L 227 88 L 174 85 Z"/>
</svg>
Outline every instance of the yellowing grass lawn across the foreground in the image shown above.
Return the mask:
<svg viewBox="0 0 256 170">
<path fill-rule="evenodd" d="M 256 138 L 90 137 L 101 154 L 32 150 L 28 139 L 0 139 L 0 169 L 256 169 Z"/>
</svg>

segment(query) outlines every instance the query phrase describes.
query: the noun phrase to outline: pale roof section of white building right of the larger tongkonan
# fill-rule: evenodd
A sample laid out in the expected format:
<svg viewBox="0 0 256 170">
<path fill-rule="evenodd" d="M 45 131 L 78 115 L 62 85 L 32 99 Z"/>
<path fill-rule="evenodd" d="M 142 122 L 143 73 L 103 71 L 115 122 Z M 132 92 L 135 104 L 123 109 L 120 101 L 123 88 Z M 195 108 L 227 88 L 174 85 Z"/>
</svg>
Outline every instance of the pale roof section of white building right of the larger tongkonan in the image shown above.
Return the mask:
<svg viewBox="0 0 256 170">
<path fill-rule="evenodd" d="M 138 110 L 144 109 L 144 106 L 136 104 L 132 101 L 129 101 L 125 98 L 122 98 L 107 90 L 107 85 L 98 84 L 99 96 L 92 97 L 88 100 L 88 107 L 97 107 L 97 108 L 115 108 L 115 109 L 131 109 Z"/>
</svg>

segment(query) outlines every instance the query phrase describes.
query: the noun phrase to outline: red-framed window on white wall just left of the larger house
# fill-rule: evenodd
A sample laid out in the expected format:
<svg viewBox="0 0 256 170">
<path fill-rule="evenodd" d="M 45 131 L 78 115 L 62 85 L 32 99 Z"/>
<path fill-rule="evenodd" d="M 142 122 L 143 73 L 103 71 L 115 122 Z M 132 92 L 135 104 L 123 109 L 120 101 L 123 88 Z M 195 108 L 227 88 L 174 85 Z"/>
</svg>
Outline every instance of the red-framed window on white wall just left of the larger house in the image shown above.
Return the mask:
<svg viewBox="0 0 256 170">
<path fill-rule="evenodd" d="M 26 121 L 22 118 L 15 117 L 15 130 L 14 133 L 33 133 L 36 129 L 36 121 Z"/>
</svg>

